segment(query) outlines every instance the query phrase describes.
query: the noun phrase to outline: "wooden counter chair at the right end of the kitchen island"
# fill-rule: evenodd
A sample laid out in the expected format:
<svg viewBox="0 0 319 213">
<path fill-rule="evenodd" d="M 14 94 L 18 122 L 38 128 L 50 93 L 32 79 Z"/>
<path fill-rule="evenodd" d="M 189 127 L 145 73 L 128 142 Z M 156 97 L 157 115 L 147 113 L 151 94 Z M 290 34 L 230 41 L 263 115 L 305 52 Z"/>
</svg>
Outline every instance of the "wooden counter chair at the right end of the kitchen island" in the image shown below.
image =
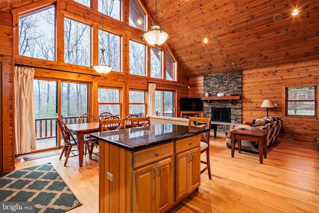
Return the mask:
<svg viewBox="0 0 319 213">
<path fill-rule="evenodd" d="M 205 164 L 206 167 L 200 171 L 200 174 L 208 170 L 209 180 L 211 180 L 210 161 L 209 161 L 210 122 L 211 122 L 211 118 L 199 118 L 199 117 L 188 118 L 188 127 L 202 127 L 202 128 L 209 129 L 208 132 L 204 132 L 200 135 L 200 154 L 206 152 L 206 161 L 200 161 L 200 163 Z"/>
</svg>

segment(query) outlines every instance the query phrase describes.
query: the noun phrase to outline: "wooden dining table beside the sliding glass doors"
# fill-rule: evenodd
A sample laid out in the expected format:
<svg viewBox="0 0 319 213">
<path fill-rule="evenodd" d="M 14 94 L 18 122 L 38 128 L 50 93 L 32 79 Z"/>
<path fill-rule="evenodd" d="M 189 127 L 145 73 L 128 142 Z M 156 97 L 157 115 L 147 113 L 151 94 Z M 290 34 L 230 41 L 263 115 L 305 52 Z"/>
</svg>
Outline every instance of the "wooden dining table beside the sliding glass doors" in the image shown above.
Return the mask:
<svg viewBox="0 0 319 213">
<path fill-rule="evenodd" d="M 82 124 L 67 124 L 66 125 L 72 133 L 76 134 L 78 152 L 79 152 L 79 166 L 83 164 L 84 154 L 84 136 L 90 133 L 99 131 L 99 122 L 82 123 Z"/>
</svg>

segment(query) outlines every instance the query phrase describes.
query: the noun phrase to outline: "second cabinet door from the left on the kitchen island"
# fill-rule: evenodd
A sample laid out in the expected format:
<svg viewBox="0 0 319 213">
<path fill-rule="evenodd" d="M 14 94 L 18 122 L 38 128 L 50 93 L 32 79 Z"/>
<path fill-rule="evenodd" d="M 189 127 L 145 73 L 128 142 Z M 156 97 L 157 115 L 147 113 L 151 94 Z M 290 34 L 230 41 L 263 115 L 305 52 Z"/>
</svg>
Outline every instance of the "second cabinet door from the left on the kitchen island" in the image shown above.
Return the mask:
<svg viewBox="0 0 319 213">
<path fill-rule="evenodd" d="M 156 212 L 165 212 L 173 205 L 173 158 L 156 164 Z"/>
</svg>

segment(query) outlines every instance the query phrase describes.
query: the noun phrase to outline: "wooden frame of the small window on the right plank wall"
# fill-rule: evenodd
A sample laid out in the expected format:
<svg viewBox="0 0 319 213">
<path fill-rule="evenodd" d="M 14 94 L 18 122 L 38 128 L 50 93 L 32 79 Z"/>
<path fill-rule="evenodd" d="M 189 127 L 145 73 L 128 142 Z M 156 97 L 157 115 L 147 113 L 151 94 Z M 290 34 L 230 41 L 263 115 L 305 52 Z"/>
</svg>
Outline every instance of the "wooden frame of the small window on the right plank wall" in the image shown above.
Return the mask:
<svg viewBox="0 0 319 213">
<path fill-rule="evenodd" d="M 288 88 L 291 87 L 308 87 L 308 86 L 314 86 L 315 88 L 315 95 L 314 95 L 314 99 L 311 100 L 288 100 Z M 318 84 L 314 83 L 314 84 L 290 84 L 290 85 L 284 85 L 283 87 L 283 100 L 284 100 L 284 107 L 283 107 L 283 111 L 284 111 L 284 115 L 286 117 L 306 117 L 306 118 L 318 118 Z M 315 102 L 315 115 L 290 115 L 288 114 L 288 103 L 289 102 Z"/>
</svg>

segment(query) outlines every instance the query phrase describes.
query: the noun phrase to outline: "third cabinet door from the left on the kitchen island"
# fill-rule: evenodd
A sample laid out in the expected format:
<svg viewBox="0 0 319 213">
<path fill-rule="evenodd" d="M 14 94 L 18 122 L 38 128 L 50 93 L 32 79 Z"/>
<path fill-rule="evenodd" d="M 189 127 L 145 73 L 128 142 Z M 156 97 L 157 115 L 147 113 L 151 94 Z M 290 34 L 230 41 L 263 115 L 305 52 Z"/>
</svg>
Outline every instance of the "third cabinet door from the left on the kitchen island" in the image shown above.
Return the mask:
<svg viewBox="0 0 319 213">
<path fill-rule="evenodd" d="M 176 155 L 175 163 L 175 201 L 179 201 L 188 194 L 188 166 L 189 152 Z"/>
</svg>

